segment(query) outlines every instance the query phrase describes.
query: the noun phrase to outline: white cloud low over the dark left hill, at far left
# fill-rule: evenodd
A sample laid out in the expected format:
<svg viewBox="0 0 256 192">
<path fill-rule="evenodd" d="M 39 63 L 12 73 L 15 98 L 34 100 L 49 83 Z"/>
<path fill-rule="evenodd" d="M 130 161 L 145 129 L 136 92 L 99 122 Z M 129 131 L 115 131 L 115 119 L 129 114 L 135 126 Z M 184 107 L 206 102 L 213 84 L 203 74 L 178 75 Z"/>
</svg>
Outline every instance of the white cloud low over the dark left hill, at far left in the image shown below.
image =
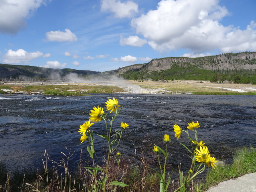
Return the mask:
<svg viewBox="0 0 256 192">
<path fill-rule="evenodd" d="M 33 53 L 28 53 L 23 49 L 17 49 L 17 51 L 13 51 L 9 49 L 7 53 L 3 56 L 4 63 L 28 63 L 33 59 L 37 59 L 42 56 L 43 53 L 40 51 L 36 51 Z"/>
</svg>

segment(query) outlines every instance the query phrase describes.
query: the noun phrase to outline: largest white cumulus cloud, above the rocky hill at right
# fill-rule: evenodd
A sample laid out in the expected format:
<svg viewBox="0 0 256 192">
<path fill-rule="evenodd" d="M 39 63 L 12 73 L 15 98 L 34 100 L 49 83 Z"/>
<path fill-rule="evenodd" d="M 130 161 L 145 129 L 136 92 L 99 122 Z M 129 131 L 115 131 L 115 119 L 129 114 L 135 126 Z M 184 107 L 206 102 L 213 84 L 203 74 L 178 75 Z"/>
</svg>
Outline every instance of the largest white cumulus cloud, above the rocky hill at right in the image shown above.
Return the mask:
<svg viewBox="0 0 256 192">
<path fill-rule="evenodd" d="M 245 30 L 223 26 L 228 15 L 217 0 L 162 0 L 156 10 L 133 18 L 131 26 L 160 52 L 189 49 L 193 54 L 219 49 L 221 52 L 256 49 L 255 23 Z"/>
</svg>

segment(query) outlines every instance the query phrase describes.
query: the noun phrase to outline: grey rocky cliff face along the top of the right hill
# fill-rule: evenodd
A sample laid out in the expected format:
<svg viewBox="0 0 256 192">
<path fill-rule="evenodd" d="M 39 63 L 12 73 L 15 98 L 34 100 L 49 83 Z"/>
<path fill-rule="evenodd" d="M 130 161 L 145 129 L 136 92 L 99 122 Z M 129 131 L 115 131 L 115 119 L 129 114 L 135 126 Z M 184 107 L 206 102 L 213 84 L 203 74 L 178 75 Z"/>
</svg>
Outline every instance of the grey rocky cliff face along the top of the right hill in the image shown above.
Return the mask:
<svg viewBox="0 0 256 192">
<path fill-rule="evenodd" d="M 217 56 L 206 56 L 197 58 L 188 57 L 166 57 L 160 59 L 154 59 L 146 64 L 137 64 L 132 66 L 126 66 L 119 68 L 117 74 L 123 74 L 126 71 L 140 71 L 148 70 L 148 73 L 152 71 L 160 71 L 170 69 L 173 64 L 179 66 L 195 66 L 201 69 L 256 69 L 256 52 L 244 52 L 244 53 L 227 53 Z"/>
</svg>

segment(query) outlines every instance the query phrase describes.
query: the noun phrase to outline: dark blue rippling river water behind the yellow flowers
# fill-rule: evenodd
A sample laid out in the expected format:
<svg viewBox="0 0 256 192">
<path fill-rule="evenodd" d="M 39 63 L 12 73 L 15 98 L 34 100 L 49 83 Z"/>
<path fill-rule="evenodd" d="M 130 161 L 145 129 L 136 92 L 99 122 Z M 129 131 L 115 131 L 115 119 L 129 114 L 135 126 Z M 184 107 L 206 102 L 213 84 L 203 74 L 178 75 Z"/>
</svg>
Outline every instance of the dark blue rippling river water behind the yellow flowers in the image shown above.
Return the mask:
<svg viewBox="0 0 256 192">
<path fill-rule="evenodd" d="M 211 156 L 217 159 L 229 162 L 235 147 L 256 145 L 256 109 L 253 108 L 256 96 L 95 94 L 62 97 L 0 94 L 0 161 L 9 170 L 42 167 L 45 149 L 50 159 L 59 161 L 61 152 L 66 153 L 67 147 L 75 152 L 70 163 L 76 167 L 80 162 L 81 149 L 83 160 L 89 159 L 88 143 L 80 144 L 79 141 L 79 126 L 88 120 L 92 107 L 99 105 L 105 108 L 105 102 L 112 97 L 123 105 L 114 127 L 119 127 L 120 122 L 129 124 L 118 147 L 126 158 L 134 159 L 135 149 L 137 154 L 143 152 L 147 155 L 152 152 L 153 144 L 164 147 L 163 135 L 169 134 L 169 168 L 177 169 L 180 163 L 184 169 L 189 168 L 189 154 L 180 145 L 189 146 L 187 135 L 183 132 L 177 140 L 172 127 L 178 124 L 184 129 L 192 121 L 200 122 L 198 139 L 204 141 Z M 95 134 L 106 134 L 104 121 L 95 123 L 91 130 Z M 106 143 L 97 137 L 95 150 L 98 157 L 103 157 L 106 149 Z"/>
</svg>

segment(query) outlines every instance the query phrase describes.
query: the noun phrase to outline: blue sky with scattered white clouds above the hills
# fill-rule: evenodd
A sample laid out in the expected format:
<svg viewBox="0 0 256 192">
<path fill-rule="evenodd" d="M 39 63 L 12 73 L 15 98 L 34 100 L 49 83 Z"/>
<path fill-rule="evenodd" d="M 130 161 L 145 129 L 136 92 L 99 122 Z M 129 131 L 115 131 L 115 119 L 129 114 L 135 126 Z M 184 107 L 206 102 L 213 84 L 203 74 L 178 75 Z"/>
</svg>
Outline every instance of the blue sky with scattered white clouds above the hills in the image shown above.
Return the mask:
<svg viewBox="0 0 256 192">
<path fill-rule="evenodd" d="M 0 63 L 108 71 L 256 51 L 256 0 L 0 0 Z"/>
</svg>

